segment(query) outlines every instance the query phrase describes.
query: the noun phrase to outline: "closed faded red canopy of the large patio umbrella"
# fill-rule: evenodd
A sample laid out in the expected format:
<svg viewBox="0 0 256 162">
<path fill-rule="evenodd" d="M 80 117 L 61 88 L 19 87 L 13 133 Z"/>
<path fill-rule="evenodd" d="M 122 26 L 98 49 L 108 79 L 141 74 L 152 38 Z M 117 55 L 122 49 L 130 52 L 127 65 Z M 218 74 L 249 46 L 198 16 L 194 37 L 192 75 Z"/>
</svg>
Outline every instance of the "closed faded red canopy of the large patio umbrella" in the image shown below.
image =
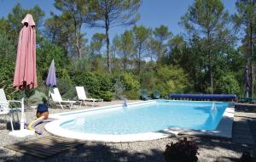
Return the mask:
<svg viewBox="0 0 256 162">
<path fill-rule="evenodd" d="M 29 90 L 38 87 L 36 71 L 36 29 L 31 14 L 26 14 L 20 31 L 15 65 L 14 87 Z"/>
</svg>

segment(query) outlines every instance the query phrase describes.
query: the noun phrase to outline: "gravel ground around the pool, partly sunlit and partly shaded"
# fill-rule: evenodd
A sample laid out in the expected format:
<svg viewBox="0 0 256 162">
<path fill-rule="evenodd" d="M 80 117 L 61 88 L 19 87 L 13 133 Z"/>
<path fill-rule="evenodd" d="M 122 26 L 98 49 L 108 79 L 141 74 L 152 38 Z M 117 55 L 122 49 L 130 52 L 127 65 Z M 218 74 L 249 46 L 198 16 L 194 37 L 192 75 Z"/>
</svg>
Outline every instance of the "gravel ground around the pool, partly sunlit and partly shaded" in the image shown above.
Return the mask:
<svg viewBox="0 0 256 162">
<path fill-rule="evenodd" d="M 128 101 L 131 102 L 131 101 Z M 122 101 L 113 101 L 108 103 L 97 103 L 98 106 L 122 103 Z M 76 109 L 80 109 L 77 107 Z M 69 109 L 49 109 L 49 113 L 57 113 L 69 111 Z M 35 109 L 26 109 L 26 120 L 28 122 L 35 119 Z M 241 115 L 241 109 L 238 112 Z M 244 112 L 243 115 L 252 115 L 256 117 L 256 113 L 249 111 Z M 256 118 L 255 118 L 256 119 Z M 255 120 L 253 120 L 255 123 Z M 2 123 L 1 123 L 2 122 Z M 43 135 L 35 135 L 26 138 L 16 138 L 9 136 L 9 130 L 4 128 L 3 117 L 0 118 L 0 161 L 165 161 L 163 152 L 166 144 L 169 142 L 177 142 L 178 139 L 188 137 L 195 141 L 199 147 L 199 161 L 237 161 L 241 157 L 241 153 L 246 150 L 252 150 L 254 145 L 246 145 L 241 143 L 235 143 L 231 140 L 212 138 L 212 137 L 191 137 L 191 136 L 179 136 L 168 137 L 158 140 L 152 140 L 147 142 L 123 142 L 123 143 L 106 143 L 106 142 L 84 142 L 76 148 L 72 148 L 61 154 L 57 154 L 52 158 L 46 160 L 36 159 L 26 154 L 20 154 L 12 151 L 3 146 L 10 143 L 32 140 L 34 138 L 43 137 L 49 135 L 47 131 L 44 131 L 44 124 L 38 126 L 43 131 Z"/>
</svg>

